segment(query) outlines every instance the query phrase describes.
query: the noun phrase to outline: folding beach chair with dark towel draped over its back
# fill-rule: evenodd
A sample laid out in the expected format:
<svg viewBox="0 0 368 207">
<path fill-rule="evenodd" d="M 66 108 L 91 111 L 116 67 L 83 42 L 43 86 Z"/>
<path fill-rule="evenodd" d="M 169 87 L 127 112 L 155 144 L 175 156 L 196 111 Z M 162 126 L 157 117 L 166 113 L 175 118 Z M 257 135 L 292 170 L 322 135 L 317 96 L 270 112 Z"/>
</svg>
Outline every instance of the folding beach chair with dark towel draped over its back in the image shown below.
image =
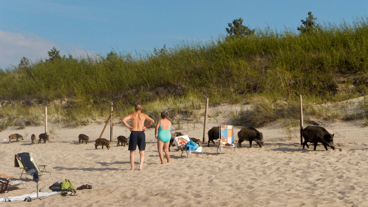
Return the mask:
<svg viewBox="0 0 368 207">
<path fill-rule="evenodd" d="M 20 178 L 22 178 L 23 174 L 31 175 L 33 178 L 33 173 L 38 171 L 38 176 L 50 174 L 51 179 L 54 180 L 52 173 L 46 171 L 46 166 L 47 165 L 38 165 L 35 156 L 29 152 L 22 152 L 14 156 L 14 167 L 21 169 Z M 40 167 L 43 167 L 43 169 L 41 170 Z"/>
</svg>

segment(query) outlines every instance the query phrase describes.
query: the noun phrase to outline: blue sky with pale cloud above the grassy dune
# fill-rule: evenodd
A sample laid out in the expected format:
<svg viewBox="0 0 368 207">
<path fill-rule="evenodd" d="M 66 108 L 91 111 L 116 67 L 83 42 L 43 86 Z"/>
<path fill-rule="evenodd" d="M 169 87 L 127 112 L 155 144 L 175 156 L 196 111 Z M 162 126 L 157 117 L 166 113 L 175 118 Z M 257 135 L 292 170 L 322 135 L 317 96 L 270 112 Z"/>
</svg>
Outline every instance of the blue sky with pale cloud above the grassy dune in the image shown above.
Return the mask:
<svg viewBox="0 0 368 207">
<path fill-rule="evenodd" d="M 368 16 L 368 0 L 0 0 L 0 68 L 45 60 L 54 46 L 81 57 L 206 42 L 240 17 L 251 29 L 297 32 L 308 11 L 322 24 L 351 24 Z"/>
</svg>

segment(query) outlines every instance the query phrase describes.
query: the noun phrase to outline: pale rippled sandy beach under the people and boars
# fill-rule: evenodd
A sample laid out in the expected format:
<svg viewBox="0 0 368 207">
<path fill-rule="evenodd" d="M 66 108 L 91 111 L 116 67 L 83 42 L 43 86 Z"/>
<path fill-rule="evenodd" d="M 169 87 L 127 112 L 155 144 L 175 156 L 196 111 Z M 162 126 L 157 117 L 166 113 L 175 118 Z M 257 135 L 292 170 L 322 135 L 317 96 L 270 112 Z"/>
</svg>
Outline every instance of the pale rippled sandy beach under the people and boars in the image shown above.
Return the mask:
<svg viewBox="0 0 368 207">
<path fill-rule="evenodd" d="M 233 106 L 235 107 L 235 106 Z M 203 120 L 203 117 L 202 117 Z M 229 124 L 226 109 L 221 116 L 208 120 L 207 129 Z M 202 123 L 183 121 L 180 131 L 190 137 L 203 136 Z M 306 125 L 305 125 L 306 126 Z M 359 121 L 321 124 L 335 133 L 336 150 L 302 149 L 299 129 L 290 134 L 277 124 L 258 130 L 263 133 L 265 146 L 248 142 L 237 148 L 224 149 L 217 154 L 217 145 L 203 144 L 204 158 L 192 154 L 180 157 L 181 152 L 171 148 L 170 163 L 159 164 L 160 159 L 154 129 L 146 131 L 146 151 L 143 171 L 130 171 L 127 147 L 117 147 L 116 140 L 110 150 L 98 147 L 103 124 L 79 128 L 65 128 L 50 136 L 46 144 L 31 145 L 31 134 L 45 131 L 43 126 L 17 130 L 10 127 L 0 132 L 0 174 L 19 179 L 20 169 L 14 167 L 14 154 L 32 152 L 39 165 L 47 165 L 49 175 L 41 176 L 39 187 L 70 179 L 75 187 L 92 185 L 92 189 L 77 190 L 78 196 L 55 194 L 32 200 L 31 203 L 13 201 L 1 206 L 368 206 L 368 138 L 367 129 Z M 235 127 L 235 134 L 242 127 Z M 114 126 L 114 137 L 128 135 L 126 127 Z M 58 131 L 56 130 L 56 133 Z M 8 143 L 8 136 L 25 136 L 18 143 Z M 91 143 L 79 144 L 78 134 L 87 134 Z M 109 139 L 109 130 L 104 138 Z M 235 136 L 237 139 L 237 136 Z M 6 139 L 6 141 L 3 141 Z M 139 153 L 136 152 L 138 169 Z M 166 161 L 166 159 L 165 159 Z M 21 196 L 36 190 L 31 176 L 24 176 L 28 189 L 11 189 L 0 198 Z"/>
</svg>

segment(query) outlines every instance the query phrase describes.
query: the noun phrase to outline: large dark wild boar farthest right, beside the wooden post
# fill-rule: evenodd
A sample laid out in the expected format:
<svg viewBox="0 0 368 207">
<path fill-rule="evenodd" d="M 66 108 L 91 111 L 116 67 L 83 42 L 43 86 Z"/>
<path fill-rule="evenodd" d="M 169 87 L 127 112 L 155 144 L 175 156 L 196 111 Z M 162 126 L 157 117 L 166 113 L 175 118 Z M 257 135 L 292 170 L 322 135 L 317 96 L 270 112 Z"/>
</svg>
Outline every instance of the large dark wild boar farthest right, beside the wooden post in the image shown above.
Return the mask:
<svg viewBox="0 0 368 207">
<path fill-rule="evenodd" d="M 300 130 L 301 135 L 304 137 L 303 149 L 304 145 L 307 145 L 309 149 L 308 142 L 314 143 L 314 150 L 316 150 L 317 144 L 320 142 L 323 144 L 326 150 L 327 146 L 331 147 L 335 150 L 335 145 L 333 144 L 333 135 L 330 134 L 325 128 L 320 126 L 307 126 L 304 129 Z"/>
</svg>

